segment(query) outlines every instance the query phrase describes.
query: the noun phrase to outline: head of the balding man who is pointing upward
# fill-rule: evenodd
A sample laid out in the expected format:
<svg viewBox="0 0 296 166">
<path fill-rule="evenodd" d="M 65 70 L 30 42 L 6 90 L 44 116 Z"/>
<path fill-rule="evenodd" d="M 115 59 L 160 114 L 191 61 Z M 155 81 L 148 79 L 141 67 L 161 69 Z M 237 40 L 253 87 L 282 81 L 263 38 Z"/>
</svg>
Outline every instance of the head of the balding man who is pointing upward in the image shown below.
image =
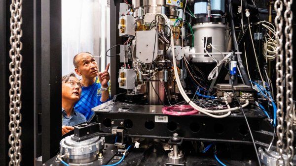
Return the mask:
<svg viewBox="0 0 296 166">
<path fill-rule="evenodd" d="M 78 62 L 78 75 L 82 75 L 86 78 L 95 78 L 98 76 L 98 64 L 93 55 L 82 53 L 76 57 Z"/>
</svg>

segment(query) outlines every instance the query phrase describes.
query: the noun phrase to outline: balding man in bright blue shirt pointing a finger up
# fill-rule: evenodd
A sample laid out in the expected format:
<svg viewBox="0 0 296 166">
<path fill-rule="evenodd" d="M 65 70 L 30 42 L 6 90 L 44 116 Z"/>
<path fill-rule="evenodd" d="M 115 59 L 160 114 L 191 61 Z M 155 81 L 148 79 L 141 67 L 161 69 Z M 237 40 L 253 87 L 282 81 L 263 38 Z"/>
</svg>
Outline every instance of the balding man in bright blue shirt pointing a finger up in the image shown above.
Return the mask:
<svg viewBox="0 0 296 166">
<path fill-rule="evenodd" d="M 86 120 L 92 115 L 92 108 L 110 100 L 109 94 L 109 66 L 107 64 L 105 71 L 98 71 L 98 64 L 93 55 L 90 53 L 79 53 L 74 56 L 73 64 L 75 72 L 82 79 L 83 84 L 80 100 L 75 104 L 74 109 L 82 113 Z"/>
</svg>

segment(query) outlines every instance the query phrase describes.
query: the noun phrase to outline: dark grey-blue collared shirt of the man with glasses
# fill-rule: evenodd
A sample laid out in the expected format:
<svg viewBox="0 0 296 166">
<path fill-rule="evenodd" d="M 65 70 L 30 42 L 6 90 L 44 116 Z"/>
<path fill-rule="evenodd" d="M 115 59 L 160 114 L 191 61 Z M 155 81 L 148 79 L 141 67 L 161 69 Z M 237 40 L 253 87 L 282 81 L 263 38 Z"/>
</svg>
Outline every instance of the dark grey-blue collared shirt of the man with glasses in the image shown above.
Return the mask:
<svg viewBox="0 0 296 166">
<path fill-rule="evenodd" d="M 68 117 L 66 110 L 62 108 L 62 117 L 63 117 L 62 125 L 65 125 L 65 126 L 75 126 L 77 124 L 86 122 L 86 119 L 83 116 L 83 114 L 75 111 L 74 109 L 70 117 Z"/>
</svg>

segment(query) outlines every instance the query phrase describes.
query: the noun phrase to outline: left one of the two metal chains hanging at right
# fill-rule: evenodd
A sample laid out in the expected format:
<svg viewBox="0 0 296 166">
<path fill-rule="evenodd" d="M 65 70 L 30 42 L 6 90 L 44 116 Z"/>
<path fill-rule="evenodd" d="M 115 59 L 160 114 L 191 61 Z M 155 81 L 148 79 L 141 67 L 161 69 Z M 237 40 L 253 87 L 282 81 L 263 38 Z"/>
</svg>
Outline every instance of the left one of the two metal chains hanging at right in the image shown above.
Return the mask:
<svg viewBox="0 0 296 166">
<path fill-rule="evenodd" d="M 276 149 L 279 153 L 279 159 L 277 160 L 277 166 L 284 165 L 284 157 L 283 152 L 285 149 L 285 144 L 283 141 L 284 138 L 284 58 L 283 58 L 283 23 L 284 20 L 281 16 L 283 11 L 283 2 L 282 0 L 276 0 L 274 3 L 274 9 L 276 11 L 276 17 L 274 19 L 274 23 L 276 26 L 276 40 L 277 45 L 276 48 L 276 103 L 277 103 L 277 122 L 278 125 L 276 127 L 276 133 L 278 137 L 278 141 L 276 142 Z"/>
</svg>

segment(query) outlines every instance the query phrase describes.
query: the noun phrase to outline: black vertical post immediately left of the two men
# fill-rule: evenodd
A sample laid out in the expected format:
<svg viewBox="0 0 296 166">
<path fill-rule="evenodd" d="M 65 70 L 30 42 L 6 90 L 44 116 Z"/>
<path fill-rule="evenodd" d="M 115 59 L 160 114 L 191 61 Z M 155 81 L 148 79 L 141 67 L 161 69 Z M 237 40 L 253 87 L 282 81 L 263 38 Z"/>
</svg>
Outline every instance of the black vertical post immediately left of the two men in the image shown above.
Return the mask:
<svg viewBox="0 0 296 166">
<path fill-rule="evenodd" d="M 42 162 L 59 151 L 61 140 L 61 0 L 41 1 Z"/>
</svg>

